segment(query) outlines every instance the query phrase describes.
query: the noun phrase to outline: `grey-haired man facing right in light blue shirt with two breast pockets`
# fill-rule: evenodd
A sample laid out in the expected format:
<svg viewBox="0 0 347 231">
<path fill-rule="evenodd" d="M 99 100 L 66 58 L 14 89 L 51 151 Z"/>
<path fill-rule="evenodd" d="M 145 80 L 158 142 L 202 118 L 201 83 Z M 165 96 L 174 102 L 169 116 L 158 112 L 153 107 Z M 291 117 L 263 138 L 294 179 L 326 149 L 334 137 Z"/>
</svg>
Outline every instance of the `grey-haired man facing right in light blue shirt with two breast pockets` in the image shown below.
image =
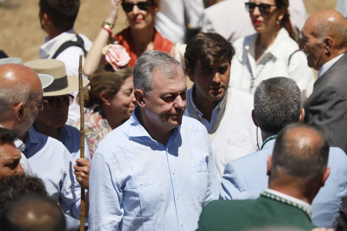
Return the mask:
<svg viewBox="0 0 347 231">
<path fill-rule="evenodd" d="M 183 116 L 182 65 L 151 51 L 137 60 L 133 81 L 138 106 L 92 159 L 89 229 L 195 230 L 219 189 L 206 128 Z"/>
</svg>

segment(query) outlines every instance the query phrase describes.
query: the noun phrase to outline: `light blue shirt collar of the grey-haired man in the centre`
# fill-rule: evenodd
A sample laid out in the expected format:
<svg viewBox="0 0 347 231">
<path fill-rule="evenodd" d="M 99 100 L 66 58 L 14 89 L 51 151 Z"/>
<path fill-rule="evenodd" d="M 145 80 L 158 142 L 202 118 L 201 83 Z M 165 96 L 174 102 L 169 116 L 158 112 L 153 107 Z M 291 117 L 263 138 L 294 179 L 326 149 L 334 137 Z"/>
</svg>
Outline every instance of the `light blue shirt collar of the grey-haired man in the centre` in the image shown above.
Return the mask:
<svg viewBox="0 0 347 231">
<path fill-rule="evenodd" d="M 152 137 L 150 136 L 150 134 L 148 134 L 148 132 L 146 131 L 146 129 L 142 126 L 142 124 L 139 122 L 139 120 L 136 117 L 136 112 L 140 109 L 140 107 L 137 105 L 134 108 L 134 111 L 132 113 L 132 115 L 129 118 L 129 125 L 128 125 L 128 129 L 129 129 L 129 137 L 147 137 L 149 140 L 159 144 L 159 142 L 157 142 L 156 140 L 153 140 Z M 172 130 L 172 134 L 171 136 L 175 136 L 175 137 L 171 137 L 170 139 L 176 139 L 176 137 L 178 136 L 178 131 L 179 131 L 179 127 L 175 127 Z M 169 139 L 169 140 L 170 140 Z M 169 141 L 167 143 L 167 146 L 169 144 Z"/>
</svg>

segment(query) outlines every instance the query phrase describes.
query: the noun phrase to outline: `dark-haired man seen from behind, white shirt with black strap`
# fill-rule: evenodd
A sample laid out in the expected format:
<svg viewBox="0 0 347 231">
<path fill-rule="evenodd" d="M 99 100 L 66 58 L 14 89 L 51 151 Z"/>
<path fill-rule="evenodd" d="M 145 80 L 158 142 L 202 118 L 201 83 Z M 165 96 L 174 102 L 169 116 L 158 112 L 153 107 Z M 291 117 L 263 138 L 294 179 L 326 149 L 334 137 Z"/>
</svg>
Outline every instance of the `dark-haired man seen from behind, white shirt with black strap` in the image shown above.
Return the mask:
<svg viewBox="0 0 347 231">
<path fill-rule="evenodd" d="M 83 34 L 77 34 L 74 23 L 78 14 L 79 0 L 40 0 L 40 23 L 47 33 L 45 43 L 40 47 L 40 59 L 58 59 L 65 63 L 67 75 L 78 76 L 79 55 L 82 63 L 93 43 Z M 85 77 L 86 78 L 86 77 Z M 74 93 L 74 103 L 69 107 L 67 124 L 80 117 L 79 105 Z"/>
</svg>

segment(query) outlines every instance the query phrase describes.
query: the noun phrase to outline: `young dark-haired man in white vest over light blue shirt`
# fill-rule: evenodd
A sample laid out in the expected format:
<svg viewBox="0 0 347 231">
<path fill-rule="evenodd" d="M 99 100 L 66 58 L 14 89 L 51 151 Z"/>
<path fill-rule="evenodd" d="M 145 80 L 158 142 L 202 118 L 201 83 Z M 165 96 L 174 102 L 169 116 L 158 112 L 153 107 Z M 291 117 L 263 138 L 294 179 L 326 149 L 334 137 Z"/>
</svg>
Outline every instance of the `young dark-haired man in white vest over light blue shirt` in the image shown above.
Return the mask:
<svg viewBox="0 0 347 231">
<path fill-rule="evenodd" d="M 194 82 L 187 91 L 184 115 L 206 127 L 219 180 L 228 161 L 257 151 L 257 128 L 251 118 L 253 97 L 229 87 L 234 55 L 231 43 L 216 33 L 194 36 L 184 55 L 186 72 Z"/>
</svg>

